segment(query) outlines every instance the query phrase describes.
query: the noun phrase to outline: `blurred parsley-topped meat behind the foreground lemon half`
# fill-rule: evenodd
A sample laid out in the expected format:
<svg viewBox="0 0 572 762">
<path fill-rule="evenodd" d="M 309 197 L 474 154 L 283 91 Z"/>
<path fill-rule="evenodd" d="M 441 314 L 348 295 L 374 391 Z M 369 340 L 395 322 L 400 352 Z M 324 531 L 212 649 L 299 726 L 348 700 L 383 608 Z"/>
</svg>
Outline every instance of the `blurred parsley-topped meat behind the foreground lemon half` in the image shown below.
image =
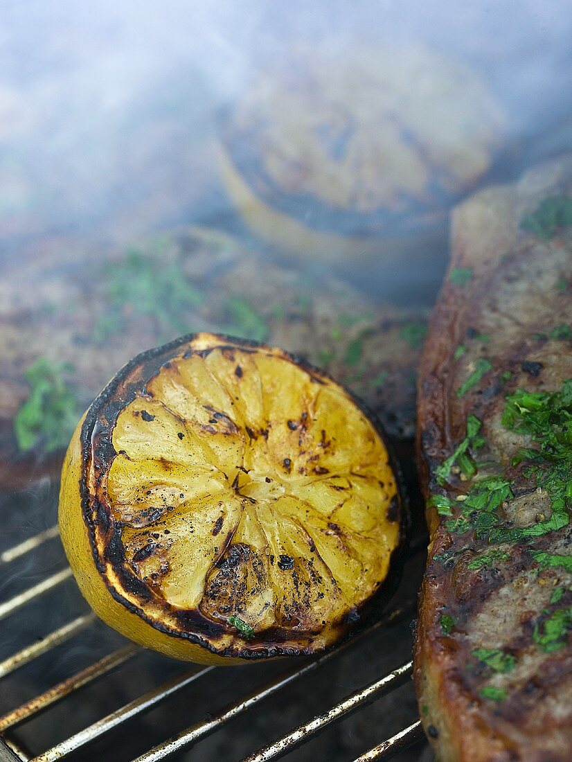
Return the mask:
<svg viewBox="0 0 572 762">
<path fill-rule="evenodd" d="M 332 277 L 280 266 L 213 230 L 171 231 L 106 261 L 93 252 L 75 264 L 42 260 L 0 283 L 0 486 L 59 466 L 70 424 L 110 377 L 188 331 L 269 341 L 305 357 L 363 396 L 395 439 L 412 437 L 425 328 L 419 311 L 374 306 Z M 70 415 L 61 431 L 50 424 L 55 435 L 40 426 L 26 442 L 14 421 L 34 394 L 29 369 L 38 358 L 49 368 L 40 367 L 35 388 L 56 367 L 57 404 Z"/>
</svg>

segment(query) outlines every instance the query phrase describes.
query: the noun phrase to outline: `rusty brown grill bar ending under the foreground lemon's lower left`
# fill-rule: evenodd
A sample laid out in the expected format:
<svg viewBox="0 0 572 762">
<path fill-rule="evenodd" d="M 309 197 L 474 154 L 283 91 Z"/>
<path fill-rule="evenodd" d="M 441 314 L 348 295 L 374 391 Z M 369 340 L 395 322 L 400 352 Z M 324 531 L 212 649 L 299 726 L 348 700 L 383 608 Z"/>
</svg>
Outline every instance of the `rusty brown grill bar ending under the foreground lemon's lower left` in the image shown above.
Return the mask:
<svg viewBox="0 0 572 762">
<path fill-rule="evenodd" d="M 11 712 L 0 717 L 0 733 L 8 730 L 8 728 L 20 725 L 24 720 L 39 714 L 43 709 L 47 709 L 48 706 L 52 706 L 66 696 L 69 696 L 69 693 L 73 693 L 74 690 L 92 683 L 98 677 L 103 677 L 107 672 L 119 667 L 121 664 L 125 664 L 134 655 L 140 653 L 141 650 L 138 645 L 129 643 L 129 645 L 118 648 L 117 651 L 104 656 L 104 658 L 96 661 L 94 664 L 90 664 L 89 667 L 77 672 L 72 677 L 68 677 L 67 680 L 62 680 L 61 683 L 49 688 L 44 693 L 34 696 L 30 701 L 18 706 L 18 709 L 13 709 Z"/>
</svg>

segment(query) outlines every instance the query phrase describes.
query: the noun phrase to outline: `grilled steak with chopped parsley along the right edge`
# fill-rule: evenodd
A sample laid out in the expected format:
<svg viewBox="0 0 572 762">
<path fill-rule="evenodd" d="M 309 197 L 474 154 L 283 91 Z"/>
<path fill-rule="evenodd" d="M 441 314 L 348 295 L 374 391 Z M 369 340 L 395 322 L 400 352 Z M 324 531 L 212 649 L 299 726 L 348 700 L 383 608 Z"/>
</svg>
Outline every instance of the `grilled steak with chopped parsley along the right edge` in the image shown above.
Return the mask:
<svg viewBox="0 0 572 762">
<path fill-rule="evenodd" d="M 535 453 L 516 461 L 522 447 L 547 445 L 548 431 L 501 421 L 516 390 L 556 392 L 547 415 L 561 416 L 554 431 L 565 436 L 556 401 L 572 390 L 572 217 L 538 210 L 571 191 L 567 155 L 453 214 L 417 408 L 430 546 L 415 680 L 442 762 L 572 758 L 570 439 L 558 463 L 541 458 L 535 472 Z M 461 454 L 448 469 L 467 434 L 468 463 Z M 542 481 L 557 468 L 560 481 Z"/>
</svg>

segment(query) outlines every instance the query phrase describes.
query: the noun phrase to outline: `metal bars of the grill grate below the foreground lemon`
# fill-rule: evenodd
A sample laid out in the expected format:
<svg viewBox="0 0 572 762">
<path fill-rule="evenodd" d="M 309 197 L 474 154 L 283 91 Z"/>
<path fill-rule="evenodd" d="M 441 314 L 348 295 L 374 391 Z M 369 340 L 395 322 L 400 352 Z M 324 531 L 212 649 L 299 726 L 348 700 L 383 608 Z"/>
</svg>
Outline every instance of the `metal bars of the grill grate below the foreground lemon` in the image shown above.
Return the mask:
<svg viewBox="0 0 572 762">
<path fill-rule="evenodd" d="M 4 567 L 9 568 L 9 565 L 15 566 L 16 562 L 27 553 L 36 551 L 43 546 L 43 543 L 50 539 L 55 539 L 58 536 L 57 528 L 52 527 L 31 539 L 27 539 L 25 542 L 20 543 L 11 549 L 5 550 L 0 555 L 0 569 Z M 417 539 L 417 542 L 412 543 L 410 553 L 411 558 L 419 554 L 423 549 L 423 538 Z M 407 568 L 407 567 L 406 567 Z M 71 571 L 68 567 L 63 568 L 53 574 L 47 576 L 39 584 L 34 584 L 24 592 L 11 597 L 9 600 L 5 600 L 3 604 L 0 604 L 0 619 L 9 617 L 17 612 L 22 607 L 29 607 L 34 613 L 34 604 L 38 604 L 38 599 L 48 591 L 53 591 L 60 585 L 66 584 L 72 578 Z M 372 636 L 372 632 L 379 631 L 381 628 L 385 628 L 388 625 L 398 623 L 411 619 L 414 615 L 415 601 L 403 600 L 396 605 L 392 610 L 380 619 L 379 621 L 369 626 L 368 629 L 360 632 L 358 636 L 335 648 L 333 651 L 328 652 L 318 658 L 312 658 L 312 660 L 297 661 L 292 667 L 287 668 L 285 671 L 280 672 L 276 676 L 272 677 L 265 684 L 257 686 L 254 690 L 251 690 L 246 695 L 241 696 L 238 700 L 228 703 L 222 709 L 213 712 L 206 716 L 206 719 L 191 725 L 184 729 L 182 732 L 174 735 L 168 740 L 155 745 L 149 751 L 141 754 L 137 757 L 136 762 L 153 762 L 153 760 L 165 760 L 174 757 L 177 752 L 190 748 L 193 744 L 206 738 L 219 731 L 226 723 L 232 719 L 243 715 L 244 712 L 248 712 L 249 709 L 257 706 L 259 703 L 270 699 L 271 696 L 276 696 L 280 691 L 286 687 L 302 680 L 306 675 L 313 673 L 314 671 L 324 668 L 324 665 L 331 664 L 332 661 L 339 659 L 344 653 L 348 652 L 350 648 L 355 648 L 356 644 L 363 642 L 363 639 L 367 639 Z M 0 663 L 0 677 L 6 677 L 13 671 L 29 664 L 34 659 L 40 657 L 40 655 L 46 655 L 52 652 L 56 646 L 69 641 L 74 638 L 85 628 L 94 626 L 97 618 L 93 613 L 79 613 L 78 616 L 69 621 L 68 623 L 59 626 L 54 629 L 47 636 L 43 637 L 39 642 L 35 642 L 32 645 L 27 645 L 21 648 L 20 651 L 15 652 L 9 658 L 5 658 Z M 162 702 L 168 700 L 169 697 L 183 691 L 190 684 L 202 680 L 207 674 L 213 671 L 219 671 L 221 668 L 213 667 L 195 667 L 190 671 L 185 671 L 177 677 L 168 680 L 167 682 L 160 684 L 153 690 L 149 690 L 147 693 L 143 693 L 135 700 L 124 704 L 120 709 L 116 709 L 113 712 L 107 714 L 97 720 L 97 722 L 88 725 L 81 731 L 76 732 L 74 735 L 70 735 L 64 738 L 62 741 L 57 742 L 52 748 L 43 751 L 36 756 L 30 757 L 24 748 L 24 744 L 19 745 L 21 742 L 14 739 L 13 731 L 22 725 L 24 722 L 34 719 L 41 712 L 45 712 L 51 706 L 58 702 L 65 700 L 66 698 L 72 706 L 72 699 L 75 696 L 75 691 L 80 688 L 88 686 L 95 680 L 103 680 L 106 675 L 109 675 L 112 671 L 117 671 L 126 662 L 136 658 L 145 652 L 145 649 L 138 645 L 128 643 L 121 648 L 111 652 L 110 654 L 100 658 L 94 663 L 88 665 L 88 667 L 81 669 L 80 671 L 72 674 L 71 677 L 67 677 L 48 690 L 39 693 L 30 700 L 21 704 L 15 709 L 11 709 L 0 717 L 0 734 L 2 742 L 0 743 L 0 760 L 30 760 L 34 762 L 55 762 L 62 758 L 68 757 L 69 754 L 77 752 L 94 741 L 101 739 L 107 733 L 118 728 L 126 729 L 129 727 L 128 723 L 137 716 L 141 716 L 144 712 L 149 712 L 155 706 L 158 706 Z M 224 670 L 224 668 L 222 668 Z M 411 679 L 412 664 L 408 661 L 405 664 L 400 664 L 397 668 L 374 680 L 366 687 L 351 693 L 343 700 L 340 700 L 335 706 L 332 706 L 328 711 L 321 713 L 303 725 L 299 725 L 290 732 L 283 735 L 273 743 L 268 744 L 264 748 L 260 748 L 248 757 L 244 758 L 244 762 L 267 762 L 267 760 L 275 760 L 289 752 L 299 748 L 302 744 L 314 737 L 318 733 L 324 731 L 332 723 L 338 722 L 341 719 L 349 716 L 353 712 L 362 709 L 366 705 L 374 702 L 375 700 L 387 695 L 391 691 L 397 689 L 408 680 Z M 213 677 L 211 675 L 211 677 Z M 355 762 L 366 762 L 366 760 L 386 760 L 393 757 L 399 751 L 406 749 L 412 744 L 420 741 L 423 734 L 420 727 L 420 722 L 415 721 L 415 718 L 411 718 L 413 722 L 407 727 L 401 729 L 391 738 L 387 738 L 375 748 L 370 749 L 365 754 L 360 756 Z M 75 758 L 81 758 L 77 755 Z"/>
</svg>

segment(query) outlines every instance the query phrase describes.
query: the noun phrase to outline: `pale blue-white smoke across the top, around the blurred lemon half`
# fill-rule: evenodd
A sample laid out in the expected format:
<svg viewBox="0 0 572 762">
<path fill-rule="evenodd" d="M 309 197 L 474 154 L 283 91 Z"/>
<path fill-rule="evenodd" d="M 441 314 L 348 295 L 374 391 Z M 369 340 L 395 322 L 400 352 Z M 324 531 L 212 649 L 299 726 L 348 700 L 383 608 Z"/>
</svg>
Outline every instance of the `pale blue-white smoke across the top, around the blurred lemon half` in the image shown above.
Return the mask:
<svg viewBox="0 0 572 762">
<path fill-rule="evenodd" d="M 464 59 L 506 110 L 519 158 L 500 176 L 515 176 L 570 143 L 570 10 L 567 0 L 6 2 L 3 256 L 13 262 L 38 237 L 126 242 L 174 223 L 225 225 L 216 114 L 255 67 L 300 41 L 335 38 L 350 52 L 416 40 Z"/>
</svg>

